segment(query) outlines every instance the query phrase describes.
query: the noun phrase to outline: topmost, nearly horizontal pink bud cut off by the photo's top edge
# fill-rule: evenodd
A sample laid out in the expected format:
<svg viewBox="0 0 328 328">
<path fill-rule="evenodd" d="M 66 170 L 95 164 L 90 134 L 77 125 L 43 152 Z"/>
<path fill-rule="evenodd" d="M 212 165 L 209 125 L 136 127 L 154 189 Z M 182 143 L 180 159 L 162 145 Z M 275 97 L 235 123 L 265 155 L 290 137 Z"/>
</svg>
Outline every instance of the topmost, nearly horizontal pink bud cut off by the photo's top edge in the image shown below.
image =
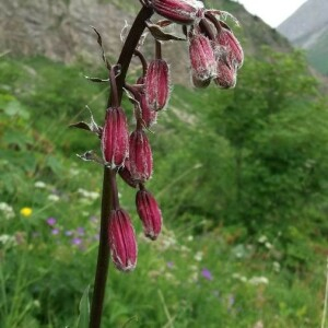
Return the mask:
<svg viewBox="0 0 328 328">
<path fill-rule="evenodd" d="M 157 14 L 184 25 L 194 24 L 203 12 L 203 3 L 197 0 L 152 0 L 151 4 Z"/>
</svg>

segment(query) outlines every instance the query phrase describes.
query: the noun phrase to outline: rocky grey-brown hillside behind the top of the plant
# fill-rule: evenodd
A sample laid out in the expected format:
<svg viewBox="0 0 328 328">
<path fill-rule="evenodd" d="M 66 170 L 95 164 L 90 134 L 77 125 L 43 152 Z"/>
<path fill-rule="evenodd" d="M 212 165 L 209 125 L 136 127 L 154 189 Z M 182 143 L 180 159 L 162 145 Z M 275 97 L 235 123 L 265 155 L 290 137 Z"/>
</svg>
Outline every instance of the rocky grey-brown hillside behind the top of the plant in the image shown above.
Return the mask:
<svg viewBox="0 0 328 328">
<path fill-rule="evenodd" d="M 242 27 L 233 26 L 233 30 L 246 55 L 259 56 L 261 45 L 277 50 L 291 48 L 276 30 L 250 15 L 242 4 L 230 0 L 204 2 L 209 8 L 230 11 L 239 20 Z M 131 24 L 139 8 L 136 0 L 1 0 L 0 54 L 45 55 L 65 62 L 82 58 L 101 65 L 96 37 L 90 27 L 93 25 L 101 32 L 106 52 L 114 61 L 121 48 L 121 28 L 125 22 Z M 230 21 L 230 24 L 234 23 Z M 151 56 L 153 45 L 147 44 L 145 50 Z M 179 68 L 174 82 L 186 81 L 186 43 L 171 43 L 165 47 L 165 56 Z"/>
</svg>

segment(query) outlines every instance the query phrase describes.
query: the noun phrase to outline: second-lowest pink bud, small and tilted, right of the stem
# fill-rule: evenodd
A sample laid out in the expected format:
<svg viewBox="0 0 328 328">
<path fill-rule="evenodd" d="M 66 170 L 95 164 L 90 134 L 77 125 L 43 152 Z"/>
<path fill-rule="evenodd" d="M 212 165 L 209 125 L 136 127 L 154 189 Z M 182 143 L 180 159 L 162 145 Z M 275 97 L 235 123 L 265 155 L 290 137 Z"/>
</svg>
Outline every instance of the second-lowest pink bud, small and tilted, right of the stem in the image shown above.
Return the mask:
<svg viewBox="0 0 328 328">
<path fill-rule="evenodd" d="M 137 192 L 136 206 L 144 235 L 155 241 L 162 229 L 162 213 L 156 200 L 148 190 L 141 189 Z"/>
</svg>

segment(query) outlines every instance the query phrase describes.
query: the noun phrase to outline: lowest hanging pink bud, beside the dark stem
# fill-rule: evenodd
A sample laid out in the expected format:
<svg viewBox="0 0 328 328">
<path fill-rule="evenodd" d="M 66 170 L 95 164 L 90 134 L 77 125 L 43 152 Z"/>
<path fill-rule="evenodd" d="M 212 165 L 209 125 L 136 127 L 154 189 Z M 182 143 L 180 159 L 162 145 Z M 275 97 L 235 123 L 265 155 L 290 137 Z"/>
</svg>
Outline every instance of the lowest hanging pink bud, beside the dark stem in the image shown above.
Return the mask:
<svg viewBox="0 0 328 328">
<path fill-rule="evenodd" d="M 109 247 L 112 260 L 121 271 L 131 271 L 137 265 L 137 242 L 129 214 L 114 210 L 109 218 Z"/>
</svg>

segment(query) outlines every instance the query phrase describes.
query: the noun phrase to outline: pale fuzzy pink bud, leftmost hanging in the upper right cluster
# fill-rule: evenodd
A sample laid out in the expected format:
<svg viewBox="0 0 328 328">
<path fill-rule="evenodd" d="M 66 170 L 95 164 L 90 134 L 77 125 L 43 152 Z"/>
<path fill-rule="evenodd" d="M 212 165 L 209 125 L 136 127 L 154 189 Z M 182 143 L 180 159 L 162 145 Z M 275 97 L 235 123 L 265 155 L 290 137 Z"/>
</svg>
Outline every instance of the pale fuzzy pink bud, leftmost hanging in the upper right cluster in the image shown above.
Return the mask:
<svg viewBox="0 0 328 328">
<path fill-rule="evenodd" d="M 197 80 L 207 81 L 216 75 L 215 56 L 208 37 L 200 33 L 190 37 L 189 57 L 192 75 Z"/>
</svg>

